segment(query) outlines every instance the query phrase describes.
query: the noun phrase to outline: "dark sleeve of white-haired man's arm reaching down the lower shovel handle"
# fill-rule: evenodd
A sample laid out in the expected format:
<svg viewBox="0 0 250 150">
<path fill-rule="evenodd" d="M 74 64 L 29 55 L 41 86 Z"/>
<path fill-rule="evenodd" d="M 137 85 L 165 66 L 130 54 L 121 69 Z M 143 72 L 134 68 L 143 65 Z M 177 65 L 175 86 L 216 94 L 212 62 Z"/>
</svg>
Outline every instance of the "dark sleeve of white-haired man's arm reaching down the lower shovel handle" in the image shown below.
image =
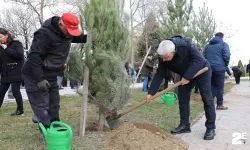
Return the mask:
<svg viewBox="0 0 250 150">
<path fill-rule="evenodd" d="M 157 68 L 157 72 L 151 82 L 150 88 L 148 90 L 148 94 L 155 95 L 161 85 L 161 82 L 164 78 L 165 71 L 167 68 L 165 68 L 164 64 L 159 61 L 159 66 Z"/>
</svg>

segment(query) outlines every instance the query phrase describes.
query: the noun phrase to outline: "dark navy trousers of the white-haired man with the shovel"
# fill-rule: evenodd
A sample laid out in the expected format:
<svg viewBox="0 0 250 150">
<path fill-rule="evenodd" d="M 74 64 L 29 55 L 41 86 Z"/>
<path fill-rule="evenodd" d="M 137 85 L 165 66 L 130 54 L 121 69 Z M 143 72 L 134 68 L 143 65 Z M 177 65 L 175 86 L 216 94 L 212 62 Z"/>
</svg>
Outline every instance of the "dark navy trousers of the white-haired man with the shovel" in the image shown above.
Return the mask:
<svg viewBox="0 0 250 150">
<path fill-rule="evenodd" d="M 202 75 L 191 80 L 188 84 L 179 86 L 178 97 L 179 97 L 179 111 L 180 111 L 180 124 L 188 125 L 190 117 L 190 95 L 191 91 L 197 83 L 200 89 L 202 101 L 204 103 L 204 110 L 206 116 L 205 126 L 208 129 L 215 129 L 215 106 L 213 95 L 211 91 L 211 75 L 212 71 L 203 73 Z"/>
</svg>

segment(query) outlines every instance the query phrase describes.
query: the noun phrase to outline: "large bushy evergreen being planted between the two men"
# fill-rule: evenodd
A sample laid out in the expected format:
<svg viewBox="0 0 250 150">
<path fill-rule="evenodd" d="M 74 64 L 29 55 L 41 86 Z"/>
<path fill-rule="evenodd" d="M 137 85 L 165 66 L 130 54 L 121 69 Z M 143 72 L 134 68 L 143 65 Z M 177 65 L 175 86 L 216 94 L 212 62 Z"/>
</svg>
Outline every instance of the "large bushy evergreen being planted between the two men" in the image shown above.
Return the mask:
<svg viewBox="0 0 250 150">
<path fill-rule="evenodd" d="M 128 17 L 119 2 L 89 0 L 84 10 L 80 8 L 86 30 L 92 35 L 85 45 L 85 63 L 90 102 L 99 107 L 99 130 L 106 116 L 122 108 L 130 96 L 131 80 L 124 68 L 129 50 Z"/>
</svg>

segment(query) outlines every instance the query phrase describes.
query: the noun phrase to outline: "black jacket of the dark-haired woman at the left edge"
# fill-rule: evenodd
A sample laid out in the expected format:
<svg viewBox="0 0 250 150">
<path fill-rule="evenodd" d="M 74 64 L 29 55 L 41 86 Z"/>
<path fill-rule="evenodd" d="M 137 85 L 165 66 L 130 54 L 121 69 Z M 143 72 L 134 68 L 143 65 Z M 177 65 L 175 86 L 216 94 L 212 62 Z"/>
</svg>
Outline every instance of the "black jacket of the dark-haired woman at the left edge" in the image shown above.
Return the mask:
<svg viewBox="0 0 250 150">
<path fill-rule="evenodd" d="M 0 46 L 1 83 L 22 81 L 23 53 L 23 45 L 17 40 L 11 41 L 6 49 Z"/>
</svg>

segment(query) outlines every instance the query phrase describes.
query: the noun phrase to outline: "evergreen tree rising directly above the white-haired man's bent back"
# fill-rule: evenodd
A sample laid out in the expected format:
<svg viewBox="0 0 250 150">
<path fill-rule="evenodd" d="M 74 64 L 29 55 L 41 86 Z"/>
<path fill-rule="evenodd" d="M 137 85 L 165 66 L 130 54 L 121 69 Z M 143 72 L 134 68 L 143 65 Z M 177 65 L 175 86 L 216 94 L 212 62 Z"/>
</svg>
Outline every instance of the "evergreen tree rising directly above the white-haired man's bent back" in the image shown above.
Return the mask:
<svg viewBox="0 0 250 150">
<path fill-rule="evenodd" d="M 165 4 L 160 11 L 163 38 L 179 34 L 192 39 L 193 0 L 166 0 Z"/>
</svg>

